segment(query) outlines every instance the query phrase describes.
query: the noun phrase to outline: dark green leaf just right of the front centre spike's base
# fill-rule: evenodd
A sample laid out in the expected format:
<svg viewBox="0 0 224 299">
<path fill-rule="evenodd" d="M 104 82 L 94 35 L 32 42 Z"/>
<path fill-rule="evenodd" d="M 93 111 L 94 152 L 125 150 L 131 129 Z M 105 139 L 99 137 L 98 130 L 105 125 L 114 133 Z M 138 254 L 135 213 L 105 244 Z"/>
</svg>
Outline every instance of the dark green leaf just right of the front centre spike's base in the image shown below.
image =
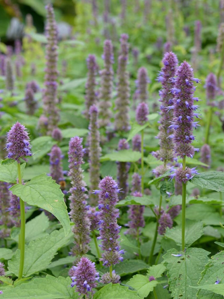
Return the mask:
<svg viewBox="0 0 224 299">
<path fill-rule="evenodd" d="M 148 268 L 149 266 L 142 260 L 124 260 L 122 263 L 114 266 L 115 272 L 120 276 L 124 276 Z"/>
</svg>

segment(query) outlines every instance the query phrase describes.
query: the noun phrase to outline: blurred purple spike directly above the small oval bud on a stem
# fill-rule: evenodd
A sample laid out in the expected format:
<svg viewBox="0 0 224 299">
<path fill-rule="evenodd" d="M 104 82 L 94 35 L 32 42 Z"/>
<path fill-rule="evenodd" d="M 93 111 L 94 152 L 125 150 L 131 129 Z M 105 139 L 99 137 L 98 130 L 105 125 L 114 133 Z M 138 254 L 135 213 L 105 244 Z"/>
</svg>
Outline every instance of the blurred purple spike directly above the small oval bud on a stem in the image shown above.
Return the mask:
<svg viewBox="0 0 224 299">
<path fill-rule="evenodd" d="M 140 102 L 147 102 L 148 100 L 148 83 L 147 69 L 144 67 L 139 68 L 136 81 L 136 98 L 139 99 Z"/>
</svg>

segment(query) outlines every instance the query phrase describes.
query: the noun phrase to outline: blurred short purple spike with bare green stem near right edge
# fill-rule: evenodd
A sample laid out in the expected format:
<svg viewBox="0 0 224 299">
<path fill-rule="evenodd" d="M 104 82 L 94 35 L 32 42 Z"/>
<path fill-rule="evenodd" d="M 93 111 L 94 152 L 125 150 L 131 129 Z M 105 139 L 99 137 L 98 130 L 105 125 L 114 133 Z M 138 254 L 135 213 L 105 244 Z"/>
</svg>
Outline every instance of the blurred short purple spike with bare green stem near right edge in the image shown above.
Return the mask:
<svg viewBox="0 0 224 299">
<path fill-rule="evenodd" d="M 212 113 L 213 113 L 213 106 L 215 106 L 214 99 L 217 94 L 217 80 L 216 76 L 213 73 L 208 74 L 206 81 L 205 81 L 205 88 L 206 88 L 206 100 L 208 106 L 208 117 L 207 117 L 207 125 L 205 131 L 205 143 L 209 144 L 209 134 L 210 134 L 210 127 L 212 121 Z"/>
</svg>

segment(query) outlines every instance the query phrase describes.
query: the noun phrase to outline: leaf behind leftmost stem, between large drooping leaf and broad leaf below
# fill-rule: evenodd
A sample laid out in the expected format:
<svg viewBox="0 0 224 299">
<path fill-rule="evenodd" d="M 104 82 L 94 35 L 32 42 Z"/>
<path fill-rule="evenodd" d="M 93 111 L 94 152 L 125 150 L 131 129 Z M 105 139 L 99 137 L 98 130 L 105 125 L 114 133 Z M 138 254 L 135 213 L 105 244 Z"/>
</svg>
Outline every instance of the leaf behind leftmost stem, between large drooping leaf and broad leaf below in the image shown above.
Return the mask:
<svg viewBox="0 0 224 299">
<path fill-rule="evenodd" d="M 28 243 L 31 240 L 35 240 L 37 238 L 40 238 L 41 236 L 45 236 L 46 234 L 44 232 L 49 227 L 49 224 L 49 218 L 45 215 L 44 212 L 27 222 L 25 228 L 25 242 Z M 15 231 L 15 234 L 13 234 L 12 232 L 12 239 L 18 242 L 19 233 L 20 231 L 17 230 Z"/>
</svg>

